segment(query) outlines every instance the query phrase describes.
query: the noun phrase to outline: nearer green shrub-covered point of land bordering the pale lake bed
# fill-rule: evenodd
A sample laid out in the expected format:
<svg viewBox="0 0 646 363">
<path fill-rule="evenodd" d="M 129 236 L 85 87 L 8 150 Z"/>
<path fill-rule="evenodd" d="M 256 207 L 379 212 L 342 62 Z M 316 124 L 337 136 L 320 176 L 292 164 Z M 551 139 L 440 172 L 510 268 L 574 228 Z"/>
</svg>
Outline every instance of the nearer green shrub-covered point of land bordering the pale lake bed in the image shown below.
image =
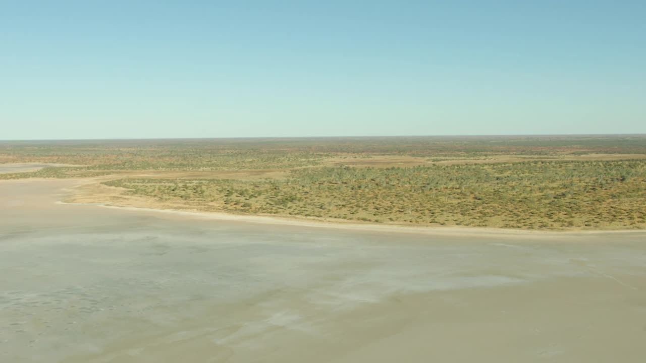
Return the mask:
<svg viewBox="0 0 646 363">
<path fill-rule="evenodd" d="M 316 168 L 286 180 L 106 182 L 213 211 L 522 229 L 645 227 L 646 161 Z"/>
</svg>

